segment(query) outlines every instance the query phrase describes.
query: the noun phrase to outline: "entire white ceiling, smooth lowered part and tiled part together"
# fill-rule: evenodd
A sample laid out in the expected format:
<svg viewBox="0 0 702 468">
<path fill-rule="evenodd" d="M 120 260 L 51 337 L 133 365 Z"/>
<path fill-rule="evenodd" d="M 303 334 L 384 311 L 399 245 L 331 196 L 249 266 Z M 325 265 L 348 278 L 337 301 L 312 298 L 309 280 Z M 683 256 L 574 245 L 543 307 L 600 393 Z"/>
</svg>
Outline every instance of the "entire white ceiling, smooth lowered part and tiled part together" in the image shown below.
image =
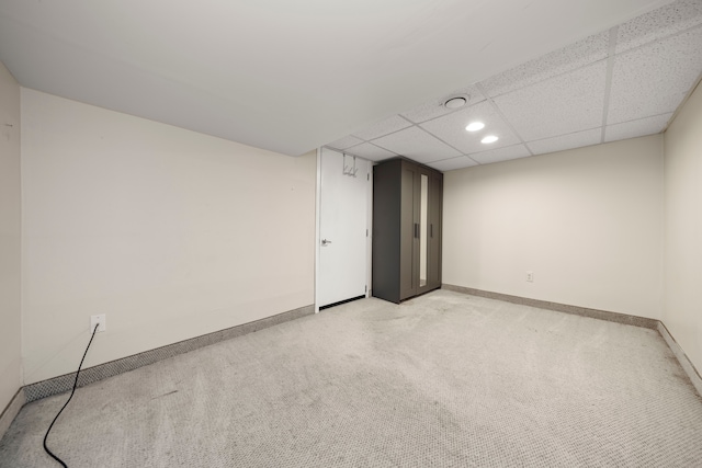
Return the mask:
<svg viewBox="0 0 702 468">
<path fill-rule="evenodd" d="M 603 123 L 605 140 L 659 130 L 700 71 L 699 5 L 0 0 L 0 61 L 26 88 L 291 156 L 448 170 L 601 141 Z M 468 107 L 437 106 L 452 90 Z M 502 132 L 489 152 L 453 127 L 478 111 Z"/>
</svg>

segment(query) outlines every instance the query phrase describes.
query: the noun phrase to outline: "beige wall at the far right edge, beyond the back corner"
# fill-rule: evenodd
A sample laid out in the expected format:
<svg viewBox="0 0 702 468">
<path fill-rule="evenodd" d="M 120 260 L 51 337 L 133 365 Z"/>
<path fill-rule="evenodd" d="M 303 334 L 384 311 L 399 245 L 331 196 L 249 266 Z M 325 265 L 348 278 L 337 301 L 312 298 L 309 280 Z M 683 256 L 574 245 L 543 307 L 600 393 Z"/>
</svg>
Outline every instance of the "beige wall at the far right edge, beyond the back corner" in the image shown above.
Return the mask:
<svg viewBox="0 0 702 468">
<path fill-rule="evenodd" d="M 666 301 L 664 322 L 702 372 L 702 89 L 665 135 Z"/>
</svg>

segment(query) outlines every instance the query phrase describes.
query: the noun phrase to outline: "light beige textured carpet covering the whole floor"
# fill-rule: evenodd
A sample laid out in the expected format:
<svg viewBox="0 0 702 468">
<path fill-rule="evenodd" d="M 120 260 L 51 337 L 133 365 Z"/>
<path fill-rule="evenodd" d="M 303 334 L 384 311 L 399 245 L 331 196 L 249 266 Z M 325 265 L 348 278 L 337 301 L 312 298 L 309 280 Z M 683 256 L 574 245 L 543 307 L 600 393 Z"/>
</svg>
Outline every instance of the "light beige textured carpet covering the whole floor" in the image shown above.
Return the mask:
<svg viewBox="0 0 702 468">
<path fill-rule="evenodd" d="M 22 409 L 1 467 L 55 466 L 66 398 Z M 691 467 L 702 399 L 653 330 L 438 290 L 79 389 L 49 447 L 72 468 Z"/>
</svg>

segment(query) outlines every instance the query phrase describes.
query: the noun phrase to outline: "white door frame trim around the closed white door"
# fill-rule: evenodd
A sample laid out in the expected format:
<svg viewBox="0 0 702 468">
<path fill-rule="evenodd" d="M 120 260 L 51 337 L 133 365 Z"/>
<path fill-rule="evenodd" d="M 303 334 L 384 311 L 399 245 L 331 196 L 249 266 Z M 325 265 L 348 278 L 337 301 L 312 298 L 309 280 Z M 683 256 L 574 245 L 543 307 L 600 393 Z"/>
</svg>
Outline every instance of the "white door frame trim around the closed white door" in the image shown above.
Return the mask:
<svg viewBox="0 0 702 468">
<path fill-rule="evenodd" d="M 331 148 L 330 148 L 331 149 Z M 333 150 L 343 153 L 343 151 Z M 359 158 L 359 157 L 356 157 Z M 364 158 L 359 158 L 364 159 Z M 371 261 L 372 261 L 372 236 L 373 236 L 373 165 L 375 162 L 364 159 L 369 163 L 369 183 L 366 196 L 366 221 L 367 236 L 365 237 L 365 297 L 371 297 Z M 317 186 L 315 195 L 315 313 L 319 313 L 319 249 L 321 249 L 320 237 L 320 215 L 321 215 L 321 148 L 317 148 Z"/>
</svg>

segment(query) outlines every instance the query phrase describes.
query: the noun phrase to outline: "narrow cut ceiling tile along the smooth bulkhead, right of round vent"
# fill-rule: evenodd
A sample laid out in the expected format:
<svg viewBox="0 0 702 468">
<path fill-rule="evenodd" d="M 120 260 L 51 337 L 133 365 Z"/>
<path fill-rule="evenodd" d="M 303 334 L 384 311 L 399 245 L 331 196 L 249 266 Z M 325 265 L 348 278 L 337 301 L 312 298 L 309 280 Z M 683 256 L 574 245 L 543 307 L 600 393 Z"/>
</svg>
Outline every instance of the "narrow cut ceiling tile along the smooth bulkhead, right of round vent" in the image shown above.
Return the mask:
<svg viewBox="0 0 702 468">
<path fill-rule="evenodd" d="M 495 98 L 607 58 L 609 32 L 589 36 L 480 82 Z"/>
</svg>

